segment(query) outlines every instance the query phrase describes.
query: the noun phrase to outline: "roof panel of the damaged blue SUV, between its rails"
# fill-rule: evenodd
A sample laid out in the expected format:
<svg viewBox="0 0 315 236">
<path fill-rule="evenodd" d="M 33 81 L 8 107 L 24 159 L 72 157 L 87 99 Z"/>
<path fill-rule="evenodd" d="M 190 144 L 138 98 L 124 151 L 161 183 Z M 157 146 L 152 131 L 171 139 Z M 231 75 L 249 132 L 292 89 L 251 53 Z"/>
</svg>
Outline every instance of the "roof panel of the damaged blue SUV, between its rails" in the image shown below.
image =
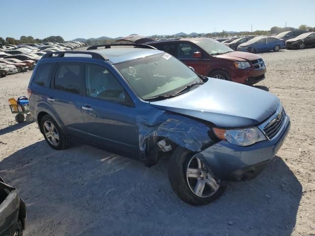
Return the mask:
<svg viewBox="0 0 315 236">
<path fill-rule="evenodd" d="M 89 50 L 89 52 L 101 54 L 103 57 L 108 58 L 108 60 L 114 64 L 162 53 L 159 50 L 145 48 L 108 48 Z"/>
</svg>

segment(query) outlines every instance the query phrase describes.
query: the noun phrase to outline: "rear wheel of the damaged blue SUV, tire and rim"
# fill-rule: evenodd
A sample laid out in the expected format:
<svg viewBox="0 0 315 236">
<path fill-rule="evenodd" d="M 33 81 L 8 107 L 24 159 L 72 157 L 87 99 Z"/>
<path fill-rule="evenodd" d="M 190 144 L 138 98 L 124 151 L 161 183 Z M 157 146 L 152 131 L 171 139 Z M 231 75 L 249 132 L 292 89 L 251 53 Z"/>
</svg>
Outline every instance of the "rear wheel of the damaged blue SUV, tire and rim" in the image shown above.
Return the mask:
<svg viewBox="0 0 315 236">
<path fill-rule="evenodd" d="M 56 150 L 63 150 L 70 145 L 70 141 L 63 134 L 57 122 L 49 115 L 40 120 L 40 129 L 47 144 Z"/>
</svg>

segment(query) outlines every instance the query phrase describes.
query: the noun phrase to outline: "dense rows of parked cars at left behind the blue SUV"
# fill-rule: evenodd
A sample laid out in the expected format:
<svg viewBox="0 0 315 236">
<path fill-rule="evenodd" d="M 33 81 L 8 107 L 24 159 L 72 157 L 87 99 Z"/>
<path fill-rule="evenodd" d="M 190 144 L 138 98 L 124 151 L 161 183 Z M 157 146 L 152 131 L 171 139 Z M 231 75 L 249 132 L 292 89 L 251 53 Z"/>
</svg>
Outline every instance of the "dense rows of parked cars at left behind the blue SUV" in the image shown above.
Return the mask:
<svg viewBox="0 0 315 236">
<path fill-rule="evenodd" d="M 0 77 L 32 70 L 36 62 L 49 52 L 72 51 L 85 46 L 81 42 L 5 45 L 0 48 Z"/>
</svg>

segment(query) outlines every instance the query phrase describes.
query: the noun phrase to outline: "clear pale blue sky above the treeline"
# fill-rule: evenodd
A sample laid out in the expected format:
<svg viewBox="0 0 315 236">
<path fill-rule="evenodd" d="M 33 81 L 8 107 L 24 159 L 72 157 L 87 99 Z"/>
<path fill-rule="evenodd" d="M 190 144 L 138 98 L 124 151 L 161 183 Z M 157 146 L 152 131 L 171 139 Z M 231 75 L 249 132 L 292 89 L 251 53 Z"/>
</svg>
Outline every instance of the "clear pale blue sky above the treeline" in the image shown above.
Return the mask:
<svg viewBox="0 0 315 236">
<path fill-rule="evenodd" d="M 251 25 L 255 31 L 285 22 L 315 27 L 315 0 L 1 0 L 0 5 L 0 37 L 16 39 L 251 31 Z"/>
</svg>

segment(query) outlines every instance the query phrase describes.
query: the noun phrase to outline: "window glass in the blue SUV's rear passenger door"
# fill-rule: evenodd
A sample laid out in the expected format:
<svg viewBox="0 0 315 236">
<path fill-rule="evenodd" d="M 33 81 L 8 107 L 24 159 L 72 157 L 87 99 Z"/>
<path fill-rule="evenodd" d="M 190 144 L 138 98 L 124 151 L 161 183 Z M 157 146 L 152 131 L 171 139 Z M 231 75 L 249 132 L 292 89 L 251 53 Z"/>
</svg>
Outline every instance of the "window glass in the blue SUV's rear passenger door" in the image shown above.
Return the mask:
<svg viewBox="0 0 315 236">
<path fill-rule="evenodd" d="M 55 75 L 55 89 L 79 94 L 83 73 L 82 63 L 60 63 Z"/>
</svg>

